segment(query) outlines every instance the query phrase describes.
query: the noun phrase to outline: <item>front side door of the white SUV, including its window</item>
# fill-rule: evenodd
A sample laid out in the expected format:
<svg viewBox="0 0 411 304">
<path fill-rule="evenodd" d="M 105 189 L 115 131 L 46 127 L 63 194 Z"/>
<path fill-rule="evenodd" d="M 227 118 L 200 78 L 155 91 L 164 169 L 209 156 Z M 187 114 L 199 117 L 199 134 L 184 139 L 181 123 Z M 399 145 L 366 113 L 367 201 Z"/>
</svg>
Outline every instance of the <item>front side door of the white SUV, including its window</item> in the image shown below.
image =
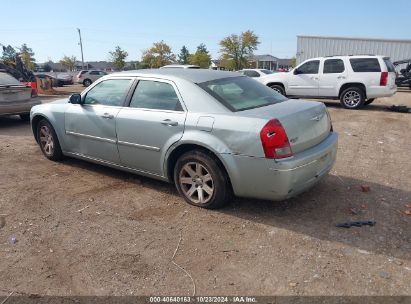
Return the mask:
<svg viewBox="0 0 411 304">
<path fill-rule="evenodd" d="M 287 95 L 318 96 L 319 60 L 310 60 L 297 67 L 288 81 Z"/>
</svg>

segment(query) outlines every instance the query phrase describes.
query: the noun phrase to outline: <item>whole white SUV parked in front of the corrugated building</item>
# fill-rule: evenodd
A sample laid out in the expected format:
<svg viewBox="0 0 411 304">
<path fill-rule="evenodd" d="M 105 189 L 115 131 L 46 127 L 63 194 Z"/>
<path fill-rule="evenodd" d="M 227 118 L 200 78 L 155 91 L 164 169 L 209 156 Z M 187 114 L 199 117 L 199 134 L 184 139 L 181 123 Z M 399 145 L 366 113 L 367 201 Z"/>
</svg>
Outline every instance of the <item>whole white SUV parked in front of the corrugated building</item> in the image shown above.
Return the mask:
<svg viewBox="0 0 411 304">
<path fill-rule="evenodd" d="M 347 109 L 395 94 L 395 68 L 384 56 L 330 56 L 304 61 L 288 73 L 256 78 L 290 97 L 340 99 Z"/>
</svg>

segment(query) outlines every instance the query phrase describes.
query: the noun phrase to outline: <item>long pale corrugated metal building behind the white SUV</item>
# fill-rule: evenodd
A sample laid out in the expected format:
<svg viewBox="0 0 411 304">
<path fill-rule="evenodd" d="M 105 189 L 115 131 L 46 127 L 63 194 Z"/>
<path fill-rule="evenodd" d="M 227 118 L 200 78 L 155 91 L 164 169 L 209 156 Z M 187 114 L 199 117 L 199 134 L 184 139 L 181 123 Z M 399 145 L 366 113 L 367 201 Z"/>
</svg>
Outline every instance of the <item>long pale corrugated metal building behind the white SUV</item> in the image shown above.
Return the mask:
<svg viewBox="0 0 411 304">
<path fill-rule="evenodd" d="M 297 36 L 297 63 L 333 55 L 384 55 L 391 61 L 411 58 L 411 40 Z"/>
</svg>

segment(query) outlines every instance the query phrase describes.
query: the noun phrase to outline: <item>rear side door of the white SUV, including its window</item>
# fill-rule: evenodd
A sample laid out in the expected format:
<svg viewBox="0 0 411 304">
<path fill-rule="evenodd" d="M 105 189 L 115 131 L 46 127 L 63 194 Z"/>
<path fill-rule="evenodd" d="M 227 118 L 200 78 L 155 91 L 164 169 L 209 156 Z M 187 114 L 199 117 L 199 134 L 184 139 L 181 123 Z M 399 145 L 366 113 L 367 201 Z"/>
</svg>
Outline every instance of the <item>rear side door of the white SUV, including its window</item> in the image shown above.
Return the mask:
<svg viewBox="0 0 411 304">
<path fill-rule="evenodd" d="M 321 70 L 319 96 L 337 97 L 339 88 L 347 78 L 344 61 L 339 58 L 325 59 Z"/>
</svg>

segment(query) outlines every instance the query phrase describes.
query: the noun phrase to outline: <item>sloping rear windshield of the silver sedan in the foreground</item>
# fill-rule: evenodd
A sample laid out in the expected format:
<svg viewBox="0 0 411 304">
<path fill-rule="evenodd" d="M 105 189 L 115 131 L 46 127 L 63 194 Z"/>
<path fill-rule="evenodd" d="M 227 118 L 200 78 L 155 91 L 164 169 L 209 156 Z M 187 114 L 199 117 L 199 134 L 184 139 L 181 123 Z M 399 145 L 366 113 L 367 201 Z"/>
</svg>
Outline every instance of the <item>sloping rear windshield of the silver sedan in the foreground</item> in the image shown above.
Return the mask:
<svg viewBox="0 0 411 304">
<path fill-rule="evenodd" d="M 245 76 L 211 80 L 198 85 L 233 112 L 287 100 L 283 95 Z"/>
</svg>

